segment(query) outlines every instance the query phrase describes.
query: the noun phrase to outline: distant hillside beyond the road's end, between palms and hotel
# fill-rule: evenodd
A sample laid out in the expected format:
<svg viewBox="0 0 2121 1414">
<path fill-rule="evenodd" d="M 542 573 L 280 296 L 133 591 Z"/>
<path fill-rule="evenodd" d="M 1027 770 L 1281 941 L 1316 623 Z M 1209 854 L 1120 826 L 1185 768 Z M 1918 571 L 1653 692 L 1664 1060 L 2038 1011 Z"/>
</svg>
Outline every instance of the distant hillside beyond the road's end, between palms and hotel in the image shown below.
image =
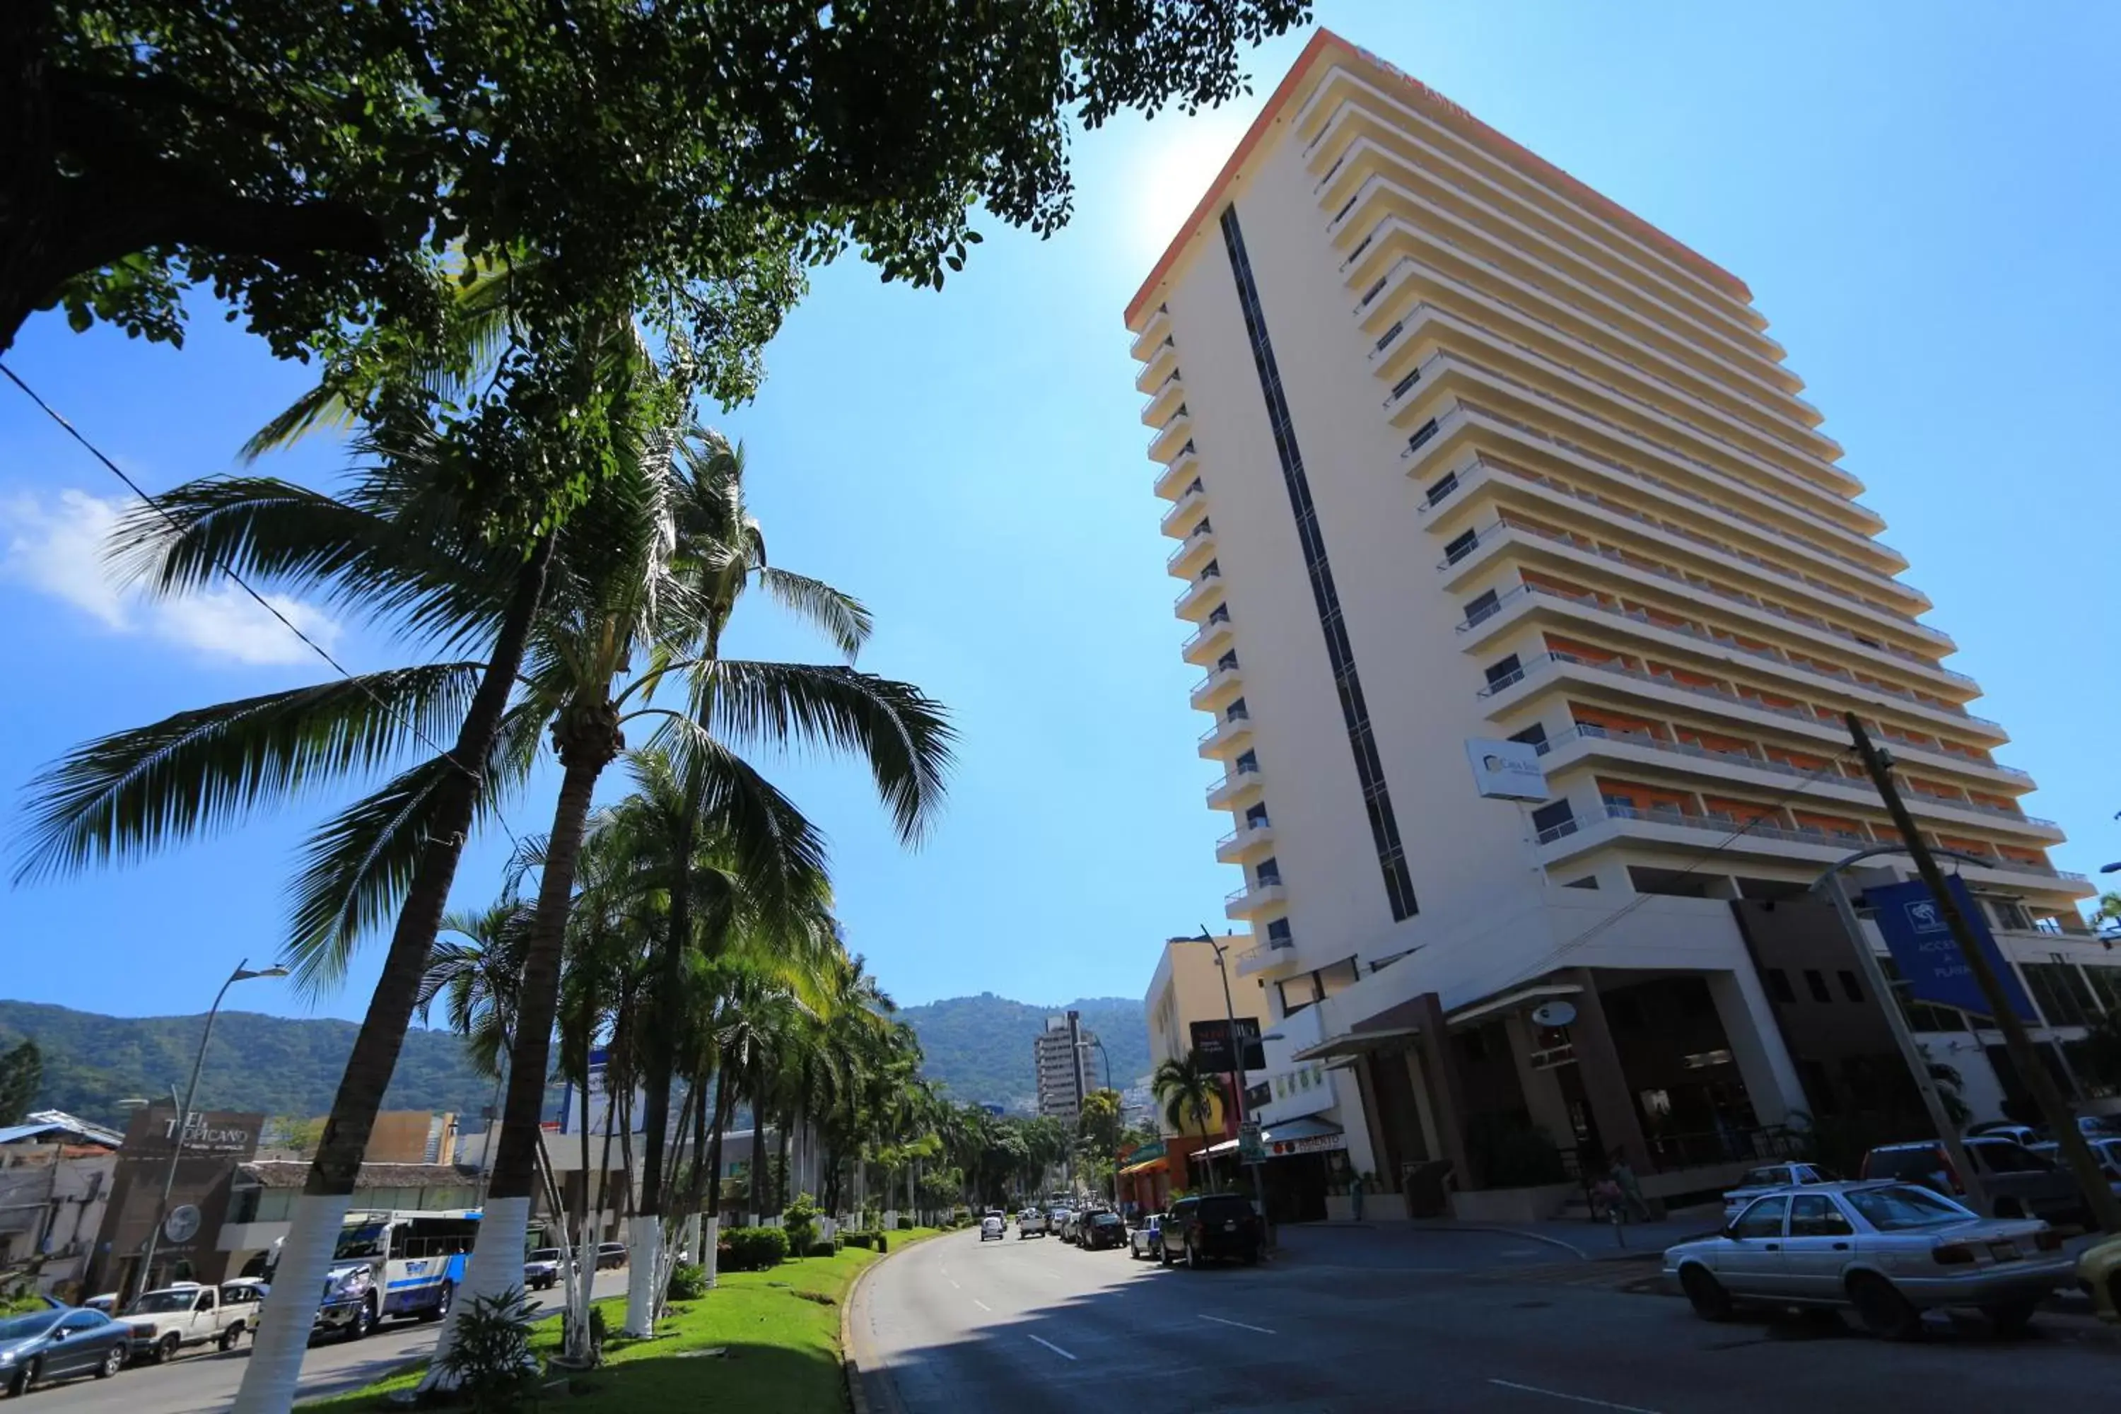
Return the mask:
<svg viewBox="0 0 2121 1414">
<path fill-rule="evenodd" d="M 1046 1030 L 1046 1018 L 1060 1011 L 1082 1011 L 1082 1024 L 1105 1043 L 1114 1085 L 1126 1090 L 1150 1073 L 1150 1028 L 1141 1003 L 1130 996 L 1033 1007 L 980 992 L 901 1007 L 899 1018 L 921 1032 L 921 1049 L 927 1054 L 923 1073 L 948 1085 L 952 1098 L 1016 1107 L 1037 1092 L 1031 1041 Z M 1090 1066 L 1103 1083 L 1105 1060 L 1097 1049 L 1090 1051 Z"/>
</svg>

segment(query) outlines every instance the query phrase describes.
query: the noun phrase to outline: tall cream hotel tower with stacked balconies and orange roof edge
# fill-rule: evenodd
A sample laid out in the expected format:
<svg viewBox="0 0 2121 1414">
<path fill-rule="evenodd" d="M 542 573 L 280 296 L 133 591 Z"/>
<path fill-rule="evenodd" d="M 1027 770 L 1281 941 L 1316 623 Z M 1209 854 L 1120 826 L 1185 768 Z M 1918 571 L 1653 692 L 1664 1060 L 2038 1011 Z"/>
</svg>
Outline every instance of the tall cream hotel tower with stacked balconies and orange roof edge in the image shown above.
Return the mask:
<svg viewBox="0 0 2121 1414">
<path fill-rule="evenodd" d="M 1254 1098 L 1338 1126 L 1332 1174 L 1523 1189 L 1555 1177 L 1538 1130 L 1570 1174 L 1618 1149 L 1682 1194 L 1792 1111 L 1915 1113 L 1809 892 L 1896 839 L 1843 712 L 1966 856 L 2036 1035 L 2121 1001 L 2062 831 L 1735 276 L 1321 32 L 1126 324 L 1254 931 L 1234 982 L 1275 1032 Z M 1544 799 L 1476 793 L 1466 744 L 1502 738 Z M 1996 1035 L 1913 1011 L 1994 1113 Z"/>
</svg>

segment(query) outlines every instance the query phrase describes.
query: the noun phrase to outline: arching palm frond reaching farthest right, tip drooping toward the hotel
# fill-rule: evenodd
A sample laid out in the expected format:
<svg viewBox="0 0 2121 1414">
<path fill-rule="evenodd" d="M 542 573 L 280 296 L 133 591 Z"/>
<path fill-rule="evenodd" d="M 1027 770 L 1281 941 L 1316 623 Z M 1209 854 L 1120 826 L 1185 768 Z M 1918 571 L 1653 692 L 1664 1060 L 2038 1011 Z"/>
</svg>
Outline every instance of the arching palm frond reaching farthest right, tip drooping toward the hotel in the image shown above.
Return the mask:
<svg viewBox="0 0 2121 1414">
<path fill-rule="evenodd" d="M 721 659 L 700 672 L 694 700 L 717 736 L 863 757 L 908 844 L 942 810 L 957 733 L 942 704 L 910 683 L 825 664 Z"/>
</svg>

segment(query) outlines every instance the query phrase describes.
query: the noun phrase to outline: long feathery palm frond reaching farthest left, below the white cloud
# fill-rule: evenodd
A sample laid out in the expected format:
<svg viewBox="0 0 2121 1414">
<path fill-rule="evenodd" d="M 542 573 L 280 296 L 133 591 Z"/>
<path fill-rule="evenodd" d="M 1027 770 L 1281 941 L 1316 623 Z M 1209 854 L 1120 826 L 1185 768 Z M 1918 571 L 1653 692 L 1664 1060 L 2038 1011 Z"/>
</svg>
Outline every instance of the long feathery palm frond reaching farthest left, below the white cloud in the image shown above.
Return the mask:
<svg viewBox="0 0 2121 1414">
<path fill-rule="evenodd" d="M 481 664 L 392 668 L 165 717 L 76 746 L 28 786 L 15 880 L 129 863 L 456 736 Z"/>
</svg>

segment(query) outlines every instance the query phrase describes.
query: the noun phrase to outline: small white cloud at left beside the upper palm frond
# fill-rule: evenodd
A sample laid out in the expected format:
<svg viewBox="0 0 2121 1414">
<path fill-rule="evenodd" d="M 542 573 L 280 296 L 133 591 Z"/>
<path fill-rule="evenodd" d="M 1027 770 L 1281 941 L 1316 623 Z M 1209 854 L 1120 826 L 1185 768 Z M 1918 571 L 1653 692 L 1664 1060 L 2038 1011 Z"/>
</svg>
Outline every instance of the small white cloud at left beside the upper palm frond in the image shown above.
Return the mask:
<svg viewBox="0 0 2121 1414">
<path fill-rule="evenodd" d="M 310 661 L 310 649 L 233 583 L 163 600 L 121 589 L 104 566 L 104 543 L 123 505 L 87 492 L 0 496 L 0 577 L 72 604 L 117 634 L 146 634 L 199 657 L 238 664 Z M 267 602 L 329 649 L 335 619 L 280 594 Z"/>
</svg>

